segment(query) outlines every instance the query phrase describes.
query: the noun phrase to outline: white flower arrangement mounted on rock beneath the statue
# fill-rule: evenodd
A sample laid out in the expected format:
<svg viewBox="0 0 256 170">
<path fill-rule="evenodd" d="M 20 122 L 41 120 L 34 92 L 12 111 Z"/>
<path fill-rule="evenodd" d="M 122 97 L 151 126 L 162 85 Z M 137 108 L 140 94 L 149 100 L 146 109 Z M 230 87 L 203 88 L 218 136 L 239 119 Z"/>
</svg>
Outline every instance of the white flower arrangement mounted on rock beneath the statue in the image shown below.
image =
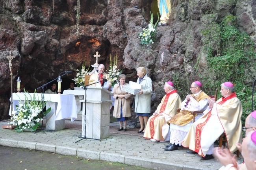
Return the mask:
<svg viewBox="0 0 256 170">
<path fill-rule="evenodd" d="M 150 19 L 150 22 L 148 24 L 148 28 L 143 28 L 142 32 L 139 33 L 139 39 L 141 39 L 141 44 L 154 44 L 154 41 L 156 40 L 156 26 L 157 26 L 157 23 L 158 23 L 158 20 L 159 20 L 159 16 L 158 16 L 158 20 L 156 21 L 155 24 L 153 24 L 153 18 L 154 18 L 154 15 L 150 12 L 150 15 L 151 15 L 151 19 Z"/>
</svg>

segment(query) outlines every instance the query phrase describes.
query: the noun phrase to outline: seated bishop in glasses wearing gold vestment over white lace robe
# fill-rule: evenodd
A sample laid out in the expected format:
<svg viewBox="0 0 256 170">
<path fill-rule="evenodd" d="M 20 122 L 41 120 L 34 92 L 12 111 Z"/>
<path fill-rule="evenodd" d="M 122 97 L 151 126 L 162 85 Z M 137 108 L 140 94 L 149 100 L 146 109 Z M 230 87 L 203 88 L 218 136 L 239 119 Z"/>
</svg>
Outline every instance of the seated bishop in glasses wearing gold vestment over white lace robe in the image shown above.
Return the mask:
<svg viewBox="0 0 256 170">
<path fill-rule="evenodd" d="M 178 150 L 178 146 L 181 146 L 182 140 L 186 137 L 193 123 L 192 111 L 204 111 L 208 107 L 207 99 L 210 97 L 201 88 L 200 81 L 191 84 L 190 91 L 192 94 L 186 96 L 186 99 L 181 103 L 180 113 L 168 122 L 170 124 L 170 144 L 166 146 L 165 151 Z M 195 121 L 200 116 L 202 115 L 197 114 Z"/>
</svg>

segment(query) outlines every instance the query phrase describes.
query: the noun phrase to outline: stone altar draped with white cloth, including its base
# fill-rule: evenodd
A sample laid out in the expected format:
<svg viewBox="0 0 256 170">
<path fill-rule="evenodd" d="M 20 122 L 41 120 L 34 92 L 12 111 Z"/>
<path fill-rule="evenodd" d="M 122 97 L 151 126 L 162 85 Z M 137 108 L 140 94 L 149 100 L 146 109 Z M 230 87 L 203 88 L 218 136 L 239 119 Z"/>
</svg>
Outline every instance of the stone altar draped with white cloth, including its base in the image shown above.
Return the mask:
<svg viewBox="0 0 256 170">
<path fill-rule="evenodd" d="M 33 95 L 34 93 L 26 93 L 27 100 Z M 13 111 L 16 111 L 16 105 L 19 105 L 20 100 L 25 100 L 26 96 L 25 93 L 13 93 Z M 35 100 L 41 101 L 42 94 L 35 93 Z M 46 101 L 46 110 L 51 108 L 51 111 L 46 115 L 46 129 L 62 130 L 65 127 L 65 118 L 70 117 L 71 121 L 77 118 L 74 95 L 44 94 L 44 101 Z M 11 116 L 11 106 L 9 115 Z"/>
</svg>

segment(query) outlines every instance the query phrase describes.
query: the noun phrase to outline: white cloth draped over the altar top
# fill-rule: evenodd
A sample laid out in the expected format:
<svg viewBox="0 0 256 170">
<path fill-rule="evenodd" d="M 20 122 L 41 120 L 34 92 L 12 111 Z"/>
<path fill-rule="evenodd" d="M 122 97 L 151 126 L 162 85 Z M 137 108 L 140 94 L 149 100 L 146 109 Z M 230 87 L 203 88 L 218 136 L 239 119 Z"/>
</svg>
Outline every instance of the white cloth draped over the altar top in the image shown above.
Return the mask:
<svg viewBox="0 0 256 170">
<path fill-rule="evenodd" d="M 13 111 L 17 111 L 15 105 L 19 105 L 19 100 L 25 100 L 25 93 L 13 93 Z M 34 93 L 26 93 L 28 100 L 33 97 Z M 31 96 L 31 97 L 30 97 Z M 36 100 L 42 100 L 42 94 L 35 94 Z M 10 98 L 11 101 L 11 98 Z M 61 120 L 64 118 L 71 118 L 74 121 L 77 118 L 76 114 L 76 100 L 74 95 L 69 94 L 44 94 L 44 101 L 56 102 L 57 109 L 55 113 L 55 120 Z M 48 109 L 48 108 L 46 108 Z M 9 115 L 11 116 L 11 106 Z"/>
</svg>

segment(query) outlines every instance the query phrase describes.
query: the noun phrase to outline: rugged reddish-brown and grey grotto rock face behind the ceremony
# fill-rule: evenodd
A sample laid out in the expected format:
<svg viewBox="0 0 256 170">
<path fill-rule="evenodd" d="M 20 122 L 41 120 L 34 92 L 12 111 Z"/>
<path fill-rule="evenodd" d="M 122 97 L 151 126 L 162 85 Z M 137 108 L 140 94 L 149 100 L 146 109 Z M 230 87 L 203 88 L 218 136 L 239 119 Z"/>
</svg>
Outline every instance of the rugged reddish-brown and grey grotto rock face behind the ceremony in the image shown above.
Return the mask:
<svg viewBox="0 0 256 170">
<path fill-rule="evenodd" d="M 106 68 L 109 54 L 117 54 L 128 80 L 136 81 L 137 67 L 147 68 L 154 86 L 153 112 L 164 95 L 165 81 L 180 75 L 189 89 L 198 78 L 195 63 L 199 71 L 205 71 L 202 44 L 210 41 L 216 54 L 220 47 L 216 39 L 204 37 L 204 30 L 226 15 L 236 15 L 239 29 L 256 42 L 254 0 L 171 0 L 169 25 L 158 27 L 156 42 L 143 46 L 137 36 L 147 26 L 154 3 L 156 0 L 0 0 L 0 118 L 8 118 L 10 52 L 13 81 L 21 76 L 21 88 L 31 92 L 62 71 L 78 69 L 83 61 L 87 67 L 95 63 L 97 51 L 101 55 L 98 62 Z M 214 36 L 219 37 L 217 32 Z M 13 86 L 15 91 L 16 83 Z M 182 97 L 188 89 L 179 89 Z"/>
</svg>

